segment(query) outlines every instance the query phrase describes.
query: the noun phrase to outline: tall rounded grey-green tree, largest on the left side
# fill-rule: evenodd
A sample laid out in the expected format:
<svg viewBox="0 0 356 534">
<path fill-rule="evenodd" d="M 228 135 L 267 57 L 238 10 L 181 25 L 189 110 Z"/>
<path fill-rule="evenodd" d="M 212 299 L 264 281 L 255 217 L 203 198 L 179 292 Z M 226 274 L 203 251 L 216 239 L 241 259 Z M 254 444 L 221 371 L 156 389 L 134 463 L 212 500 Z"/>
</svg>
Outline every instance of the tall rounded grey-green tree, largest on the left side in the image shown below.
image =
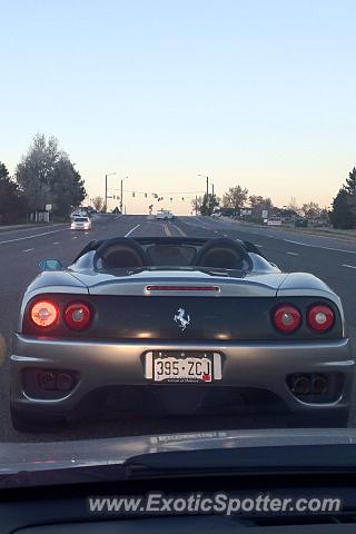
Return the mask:
<svg viewBox="0 0 356 534">
<path fill-rule="evenodd" d="M 60 217 L 69 215 L 86 197 L 83 180 L 68 155 L 59 149 L 55 137 L 34 136 L 26 156 L 17 167 L 17 181 L 29 200 L 31 210 L 52 205 Z"/>
</svg>

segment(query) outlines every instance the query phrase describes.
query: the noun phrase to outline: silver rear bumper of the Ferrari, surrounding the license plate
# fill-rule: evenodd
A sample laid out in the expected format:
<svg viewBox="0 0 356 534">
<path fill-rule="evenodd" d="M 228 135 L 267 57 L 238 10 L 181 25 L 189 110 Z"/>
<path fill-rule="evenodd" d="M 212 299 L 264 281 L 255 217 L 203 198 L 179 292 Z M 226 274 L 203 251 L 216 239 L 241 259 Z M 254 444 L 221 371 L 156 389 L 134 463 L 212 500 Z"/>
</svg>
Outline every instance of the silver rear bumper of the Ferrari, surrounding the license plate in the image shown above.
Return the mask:
<svg viewBox="0 0 356 534">
<path fill-rule="evenodd" d="M 147 354 L 152 350 L 217 353 L 221 358 L 220 376 L 209 384 L 154 384 L 146 369 Z M 17 334 L 10 360 L 11 406 L 38 417 L 70 415 L 96 392 L 112 389 L 152 393 L 171 413 L 192 413 L 201 407 L 206 396 L 212 406 L 215 399 L 220 402 L 221 392 L 234 390 L 248 392 L 249 396 L 256 392 L 256 398 L 265 392 L 300 415 L 335 415 L 350 405 L 355 367 L 347 338 L 182 345 L 180 342 L 51 340 Z M 67 390 L 43 387 L 39 380 L 43 373 L 69 375 L 72 384 Z M 296 394 L 290 382 L 294 376 L 324 376 L 328 390 Z M 189 392 L 192 396 L 187 400 Z"/>
</svg>

